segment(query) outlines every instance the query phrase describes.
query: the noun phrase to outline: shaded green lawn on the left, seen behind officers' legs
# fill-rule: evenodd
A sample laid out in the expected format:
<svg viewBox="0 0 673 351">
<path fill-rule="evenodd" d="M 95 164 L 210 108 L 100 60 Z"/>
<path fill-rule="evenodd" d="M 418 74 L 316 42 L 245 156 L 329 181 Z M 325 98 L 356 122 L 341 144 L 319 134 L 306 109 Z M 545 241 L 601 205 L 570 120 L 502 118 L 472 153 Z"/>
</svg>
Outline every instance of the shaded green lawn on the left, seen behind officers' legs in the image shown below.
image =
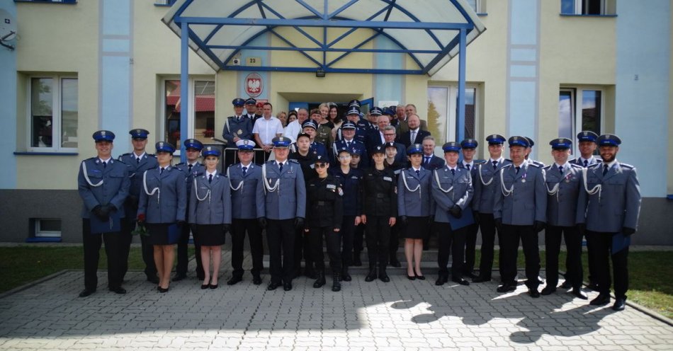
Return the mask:
<svg viewBox="0 0 673 351">
<path fill-rule="evenodd" d="M 188 255 L 194 255 L 194 247 L 189 246 Z M 132 247 L 128 255 L 129 270 L 143 270 L 140 248 Z M 61 270 L 84 269 L 84 251 L 81 246 L 38 247 L 16 246 L 0 248 L 0 292 L 38 280 Z M 101 248 L 98 268 L 106 269 L 105 250 Z"/>
</svg>

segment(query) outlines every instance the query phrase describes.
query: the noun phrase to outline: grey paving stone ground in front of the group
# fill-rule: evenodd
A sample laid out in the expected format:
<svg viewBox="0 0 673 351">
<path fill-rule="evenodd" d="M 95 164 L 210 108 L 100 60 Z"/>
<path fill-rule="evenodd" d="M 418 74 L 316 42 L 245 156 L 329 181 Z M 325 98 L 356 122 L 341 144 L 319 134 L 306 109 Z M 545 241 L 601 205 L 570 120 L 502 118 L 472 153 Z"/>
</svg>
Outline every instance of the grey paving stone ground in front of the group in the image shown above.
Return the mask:
<svg viewBox="0 0 673 351">
<path fill-rule="evenodd" d="M 669 324 L 565 292 L 531 299 L 523 284 L 509 294 L 496 282 L 436 287 L 431 270 L 428 280 L 400 271 L 389 283 L 365 282 L 360 270 L 336 293 L 300 277 L 290 292 L 267 292 L 268 275 L 260 286 L 249 274 L 227 286 L 228 259 L 225 251 L 214 290 L 191 277 L 159 294 L 129 272 L 128 294 L 101 284 L 81 299 L 83 272 L 64 271 L 11 292 L 0 298 L 0 350 L 673 350 Z"/>
</svg>

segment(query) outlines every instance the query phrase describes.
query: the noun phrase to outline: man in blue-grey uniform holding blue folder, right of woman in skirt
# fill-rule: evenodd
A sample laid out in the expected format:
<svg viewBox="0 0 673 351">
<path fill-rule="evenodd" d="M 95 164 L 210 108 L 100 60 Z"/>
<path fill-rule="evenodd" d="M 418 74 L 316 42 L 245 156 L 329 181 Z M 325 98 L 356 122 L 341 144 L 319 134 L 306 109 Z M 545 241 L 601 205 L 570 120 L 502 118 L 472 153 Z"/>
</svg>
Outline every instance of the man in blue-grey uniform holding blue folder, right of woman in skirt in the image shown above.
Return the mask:
<svg viewBox="0 0 673 351">
<path fill-rule="evenodd" d="M 474 223 L 470 202 L 474 195 L 472 175 L 465 168 L 458 167 L 460 144 L 447 142 L 444 150 L 446 166 L 433 171 L 432 197 L 436 203 L 434 222 L 439 236 L 439 277 L 435 285 L 448 281 L 448 255 L 451 252 L 451 281 L 460 285 L 470 285 L 463 278 L 465 255 L 465 235 L 468 226 Z M 452 250 L 453 246 L 453 250 Z"/>
</svg>

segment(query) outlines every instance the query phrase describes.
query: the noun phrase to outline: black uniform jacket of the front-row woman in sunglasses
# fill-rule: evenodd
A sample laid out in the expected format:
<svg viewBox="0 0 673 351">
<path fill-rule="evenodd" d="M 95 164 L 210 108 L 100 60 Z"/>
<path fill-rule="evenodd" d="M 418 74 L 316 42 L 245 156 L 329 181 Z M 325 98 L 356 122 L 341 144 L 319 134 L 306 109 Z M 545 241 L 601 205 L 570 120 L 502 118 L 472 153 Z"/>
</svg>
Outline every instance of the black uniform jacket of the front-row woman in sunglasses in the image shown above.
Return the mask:
<svg viewBox="0 0 673 351">
<path fill-rule="evenodd" d="M 327 178 L 313 178 L 306 185 L 307 226 L 329 226 L 341 229 L 344 219 L 339 178 L 327 175 Z"/>
</svg>

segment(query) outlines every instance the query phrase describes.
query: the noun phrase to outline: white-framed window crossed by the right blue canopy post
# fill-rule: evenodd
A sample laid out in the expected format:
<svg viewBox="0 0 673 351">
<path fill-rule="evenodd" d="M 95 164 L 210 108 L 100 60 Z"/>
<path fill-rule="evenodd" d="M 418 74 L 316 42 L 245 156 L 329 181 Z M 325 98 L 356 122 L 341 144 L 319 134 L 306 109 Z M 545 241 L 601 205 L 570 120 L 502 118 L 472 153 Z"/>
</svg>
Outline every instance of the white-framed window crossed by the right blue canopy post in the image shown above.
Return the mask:
<svg viewBox="0 0 673 351">
<path fill-rule="evenodd" d="M 475 137 L 477 89 L 465 88 L 465 138 Z M 428 87 L 428 130 L 435 137 L 437 146 L 444 142 L 457 141 L 458 131 L 458 86 Z"/>
</svg>

